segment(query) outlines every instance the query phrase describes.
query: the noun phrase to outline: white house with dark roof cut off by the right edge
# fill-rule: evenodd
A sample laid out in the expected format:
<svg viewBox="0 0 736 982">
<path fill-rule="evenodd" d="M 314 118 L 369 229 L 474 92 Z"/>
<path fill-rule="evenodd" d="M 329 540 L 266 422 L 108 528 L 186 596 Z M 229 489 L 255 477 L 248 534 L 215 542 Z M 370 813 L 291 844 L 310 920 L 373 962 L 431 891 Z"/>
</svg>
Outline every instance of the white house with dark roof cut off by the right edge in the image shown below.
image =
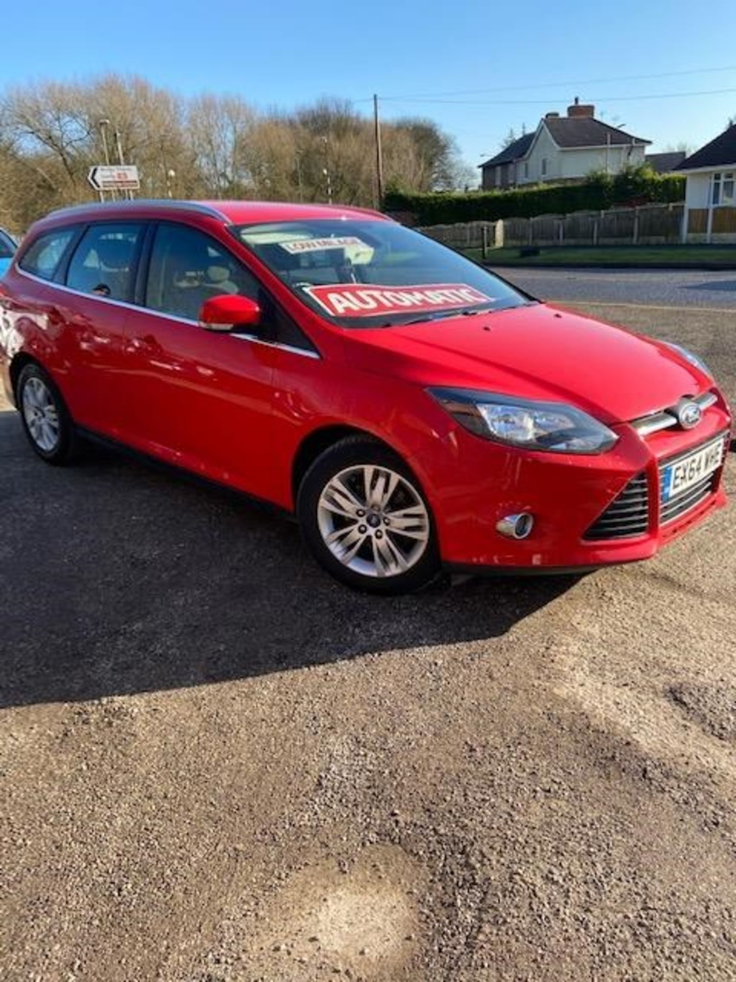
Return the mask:
<svg viewBox="0 0 736 982">
<path fill-rule="evenodd" d="M 687 176 L 682 241 L 736 243 L 736 124 L 677 168 Z"/>
</svg>

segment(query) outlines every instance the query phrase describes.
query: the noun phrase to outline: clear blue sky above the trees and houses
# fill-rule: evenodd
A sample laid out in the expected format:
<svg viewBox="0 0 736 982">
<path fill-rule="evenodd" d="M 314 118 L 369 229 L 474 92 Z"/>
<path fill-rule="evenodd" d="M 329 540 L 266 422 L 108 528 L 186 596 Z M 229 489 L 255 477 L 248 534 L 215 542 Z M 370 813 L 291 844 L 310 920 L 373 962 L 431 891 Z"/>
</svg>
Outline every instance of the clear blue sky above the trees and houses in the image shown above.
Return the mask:
<svg viewBox="0 0 736 982">
<path fill-rule="evenodd" d="M 365 112 L 378 92 L 387 118 L 436 119 L 470 164 L 575 95 L 653 150 L 701 145 L 736 116 L 732 0 L 126 0 L 117 10 L 9 5 L 0 86 L 115 71 L 262 108 L 341 95 Z M 641 98 L 720 89 L 733 91 Z"/>
</svg>

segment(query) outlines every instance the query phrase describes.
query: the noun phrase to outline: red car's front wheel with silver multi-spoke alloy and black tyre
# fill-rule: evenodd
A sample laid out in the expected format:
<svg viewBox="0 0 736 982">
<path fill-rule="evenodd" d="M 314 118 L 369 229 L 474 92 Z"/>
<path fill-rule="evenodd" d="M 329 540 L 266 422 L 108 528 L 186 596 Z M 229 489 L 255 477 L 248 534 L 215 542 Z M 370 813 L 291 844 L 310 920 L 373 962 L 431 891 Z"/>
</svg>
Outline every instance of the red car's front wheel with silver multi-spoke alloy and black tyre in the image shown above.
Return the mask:
<svg viewBox="0 0 736 982">
<path fill-rule="evenodd" d="M 317 561 L 350 586 L 403 593 L 440 569 L 419 482 L 377 440 L 347 437 L 326 450 L 301 482 L 297 514 Z"/>
</svg>

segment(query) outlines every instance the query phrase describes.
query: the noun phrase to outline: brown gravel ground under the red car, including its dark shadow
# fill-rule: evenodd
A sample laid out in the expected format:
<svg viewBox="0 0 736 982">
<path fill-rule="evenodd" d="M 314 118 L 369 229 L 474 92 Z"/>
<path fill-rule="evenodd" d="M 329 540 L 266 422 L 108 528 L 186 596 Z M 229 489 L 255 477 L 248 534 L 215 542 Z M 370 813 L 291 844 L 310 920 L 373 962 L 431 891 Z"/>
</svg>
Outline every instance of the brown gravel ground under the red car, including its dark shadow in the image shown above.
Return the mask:
<svg viewBox="0 0 736 982">
<path fill-rule="evenodd" d="M 595 309 L 736 396 L 730 315 Z M 387 600 L 12 412 L 0 459 L 3 982 L 736 979 L 732 510 Z"/>
</svg>

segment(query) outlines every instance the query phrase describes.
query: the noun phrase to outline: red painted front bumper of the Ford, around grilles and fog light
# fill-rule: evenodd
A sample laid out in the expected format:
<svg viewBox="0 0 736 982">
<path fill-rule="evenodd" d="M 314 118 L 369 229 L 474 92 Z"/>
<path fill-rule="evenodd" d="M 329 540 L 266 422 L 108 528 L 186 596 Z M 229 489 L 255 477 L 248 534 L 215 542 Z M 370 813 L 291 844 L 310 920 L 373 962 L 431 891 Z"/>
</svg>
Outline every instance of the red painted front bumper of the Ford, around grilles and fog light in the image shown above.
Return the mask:
<svg viewBox="0 0 736 982">
<path fill-rule="evenodd" d="M 597 457 L 529 453 L 456 432 L 457 466 L 443 494 L 438 521 L 443 560 L 463 573 L 572 573 L 649 559 L 711 512 L 726 504 L 721 464 L 709 493 L 671 520 L 660 508 L 660 466 L 722 435 L 730 446 L 730 416 L 719 398 L 694 430 L 661 430 L 642 438 L 630 425 L 612 427 L 619 441 Z M 645 528 L 617 538 L 586 537 L 627 487 L 645 475 L 649 512 Z M 528 538 L 496 529 L 505 515 L 530 512 Z"/>
</svg>

